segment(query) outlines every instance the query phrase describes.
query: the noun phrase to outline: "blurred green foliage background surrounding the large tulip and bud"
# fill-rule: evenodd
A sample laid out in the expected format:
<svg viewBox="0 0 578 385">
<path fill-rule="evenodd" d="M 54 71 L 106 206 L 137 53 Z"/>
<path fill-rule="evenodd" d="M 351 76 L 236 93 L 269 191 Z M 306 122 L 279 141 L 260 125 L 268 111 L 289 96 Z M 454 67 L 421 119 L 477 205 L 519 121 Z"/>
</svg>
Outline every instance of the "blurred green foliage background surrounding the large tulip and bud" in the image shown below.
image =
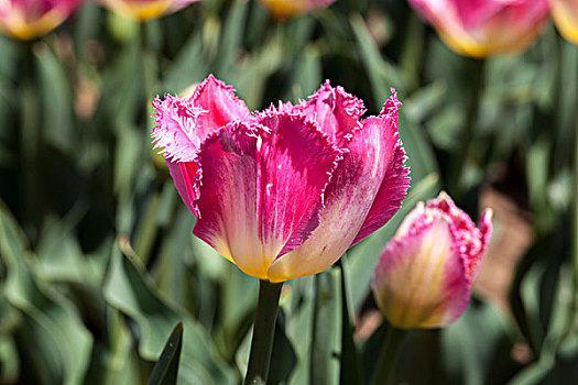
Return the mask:
<svg viewBox="0 0 578 385">
<path fill-rule="evenodd" d="M 305 98 L 326 78 L 372 114 L 391 87 L 404 102 L 404 207 L 329 271 L 286 285 L 270 383 L 368 381 L 388 326 L 356 332 L 374 309 L 369 283 L 386 241 L 439 188 L 476 218 L 490 186 L 535 233 L 512 314 L 475 299 L 451 327 L 410 332 L 396 381 L 576 380 L 578 48 L 550 26 L 528 52 L 482 65 L 450 52 L 403 0 L 339 0 L 283 23 L 254 1 L 207 0 L 142 25 L 86 3 L 42 40 L 0 37 L 1 384 L 144 384 L 179 321 L 179 383 L 240 382 L 257 279 L 190 234 L 194 217 L 149 135 L 152 98 L 209 73 L 252 109 Z"/>
</svg>

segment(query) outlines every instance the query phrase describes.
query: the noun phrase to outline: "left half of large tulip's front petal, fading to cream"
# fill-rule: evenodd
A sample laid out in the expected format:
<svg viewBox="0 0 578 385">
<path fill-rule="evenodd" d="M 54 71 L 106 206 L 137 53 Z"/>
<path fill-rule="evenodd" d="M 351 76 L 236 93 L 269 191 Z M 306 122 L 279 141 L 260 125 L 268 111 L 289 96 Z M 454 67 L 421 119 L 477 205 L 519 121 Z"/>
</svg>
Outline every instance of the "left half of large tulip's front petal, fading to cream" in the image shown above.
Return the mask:
<svg viewBox="0 0 578 385">
<path fill-rule="evenodd" d="M 255 143 L 250 129 L 238 125 L 209 135 L 198 154 L 203 175 L 193 233 L 236 263 L 250 257 L 261 262 Z M 247 274 L 263 276 L 259 266 L 238 265 Z"/>
</svg>

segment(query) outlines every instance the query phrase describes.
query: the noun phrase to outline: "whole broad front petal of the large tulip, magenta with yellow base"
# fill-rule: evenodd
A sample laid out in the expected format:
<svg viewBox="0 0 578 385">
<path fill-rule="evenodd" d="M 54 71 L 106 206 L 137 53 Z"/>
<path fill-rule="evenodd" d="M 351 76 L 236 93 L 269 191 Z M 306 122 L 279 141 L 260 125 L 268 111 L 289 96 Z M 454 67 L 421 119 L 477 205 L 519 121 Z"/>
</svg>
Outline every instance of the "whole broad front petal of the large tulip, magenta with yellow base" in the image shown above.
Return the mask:
<svg viewBox="0 0 578 385">
<path fill-rule="evenodd" d="M 244 273 L 268 279 L 275 257 L 317 227 L 340 153 L 304 118 L 263 122 L 233 123 L 201 145 L 194 233 Z"/>
</svg>

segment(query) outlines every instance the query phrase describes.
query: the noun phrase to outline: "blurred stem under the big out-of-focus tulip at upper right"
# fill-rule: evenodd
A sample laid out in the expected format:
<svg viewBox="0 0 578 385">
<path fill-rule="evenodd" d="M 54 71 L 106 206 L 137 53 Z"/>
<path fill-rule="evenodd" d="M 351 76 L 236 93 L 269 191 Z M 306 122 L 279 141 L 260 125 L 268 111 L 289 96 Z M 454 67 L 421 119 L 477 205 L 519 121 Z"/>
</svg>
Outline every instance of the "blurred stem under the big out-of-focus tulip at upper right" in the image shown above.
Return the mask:
<svg viewBox="0 0 578 385">
<path fill-rule="evenodd" d="M 476 139 L 476 121 L 478 120 L 478 113 L 480 111 L 480 99 L 482 96 L 486 78 L 486 59 L 475 59 L 473 65 L 475 68 L 472 70 L 468 110 L 466 111 L 467 114 L 464 136 L 461 139 L 460 152 L 456 158 L 456 162 L 454 163 L 454 168 L 450 172 L 451 174 L 448 184 L 449 193 L 454 197 L 459 197 L 461 193 L 459 186 L 468 162 L 471 144 Z"/>
</svg>

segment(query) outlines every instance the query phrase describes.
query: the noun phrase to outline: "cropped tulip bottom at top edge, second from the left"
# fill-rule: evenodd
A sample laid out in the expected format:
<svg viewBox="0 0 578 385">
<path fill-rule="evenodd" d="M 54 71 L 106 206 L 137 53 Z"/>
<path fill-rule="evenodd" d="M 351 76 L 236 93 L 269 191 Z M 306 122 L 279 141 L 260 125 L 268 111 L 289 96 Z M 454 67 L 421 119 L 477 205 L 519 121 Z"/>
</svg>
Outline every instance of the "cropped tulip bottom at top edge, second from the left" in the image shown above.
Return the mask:
<svg viewBox="0 0 578 385">
<path fill-rule="evenodd" d="M 112 12 L 137 21 L 155 19 L 196 1 L 199 0 L 100 0 Z"/>
</svg>

